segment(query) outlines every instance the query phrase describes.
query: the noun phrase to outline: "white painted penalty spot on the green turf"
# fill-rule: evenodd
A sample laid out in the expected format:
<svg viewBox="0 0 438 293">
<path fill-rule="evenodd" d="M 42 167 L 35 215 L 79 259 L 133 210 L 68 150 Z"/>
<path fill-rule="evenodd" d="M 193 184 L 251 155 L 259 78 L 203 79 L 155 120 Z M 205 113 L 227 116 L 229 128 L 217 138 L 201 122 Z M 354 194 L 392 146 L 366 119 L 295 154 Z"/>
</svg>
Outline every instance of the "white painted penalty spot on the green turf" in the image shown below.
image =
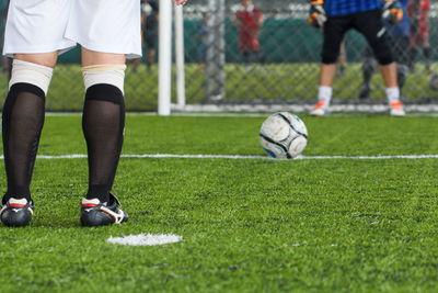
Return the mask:
<svg viewBox="0 0 438 293">
<path fill-rule="evenodd" d="M 130 245 L 130 246 L 154 246 L 154 245 L 166 245 L 175 244 L 183 240 L 183 237 L 173 234 L 139 234 L 128 235 L 124 237 L 110 237 L 106 241 L 110 244 L 117 245 Z"/>
</svg>

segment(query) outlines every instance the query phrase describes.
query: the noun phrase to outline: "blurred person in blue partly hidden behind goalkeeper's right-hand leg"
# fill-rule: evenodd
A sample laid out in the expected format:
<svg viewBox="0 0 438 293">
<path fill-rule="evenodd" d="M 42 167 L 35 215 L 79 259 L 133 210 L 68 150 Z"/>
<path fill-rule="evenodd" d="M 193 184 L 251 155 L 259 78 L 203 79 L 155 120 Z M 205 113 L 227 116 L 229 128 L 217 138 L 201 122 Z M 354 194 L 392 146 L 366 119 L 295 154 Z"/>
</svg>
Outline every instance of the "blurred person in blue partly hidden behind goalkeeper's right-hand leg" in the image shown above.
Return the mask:
<svg viewBox="0 0 438 293">
<path fill-rule="evenodd" d="M 391 44 L 392 54 L 396 61 L 399 88 L 402 90 L 410 71 L 410 16 L 407 14 L 407 0 L 400 0 L 400 3 L 403 7 L 403 19 L 395 24 L 391 24 L 388 20 L 383 20 L 383 22 L 384 27 L 388 31 L 388 40 Z M 366 46 L 362 58 L 364 83 L 360 88 L 358 98 L 367 99 L 371 93 L 371 78 L 376 72 L 378 63 L 369 45 Z"/>
</svg>

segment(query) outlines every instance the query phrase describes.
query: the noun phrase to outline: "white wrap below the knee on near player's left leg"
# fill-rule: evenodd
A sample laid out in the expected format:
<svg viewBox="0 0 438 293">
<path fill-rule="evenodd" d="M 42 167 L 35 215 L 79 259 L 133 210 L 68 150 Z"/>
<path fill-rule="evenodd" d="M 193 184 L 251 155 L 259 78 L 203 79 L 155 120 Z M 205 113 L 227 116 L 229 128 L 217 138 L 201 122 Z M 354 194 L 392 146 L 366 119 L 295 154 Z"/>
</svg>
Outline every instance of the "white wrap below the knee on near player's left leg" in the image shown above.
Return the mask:
<svg viewBox="0 0 438 293">
<path fill-rule="evenodd" d="M 54 69 L 47 66 L 14 59 L 9 88 L 15 83 L 31 83 L 41 88 L 47 95 Z"/>
</svg>

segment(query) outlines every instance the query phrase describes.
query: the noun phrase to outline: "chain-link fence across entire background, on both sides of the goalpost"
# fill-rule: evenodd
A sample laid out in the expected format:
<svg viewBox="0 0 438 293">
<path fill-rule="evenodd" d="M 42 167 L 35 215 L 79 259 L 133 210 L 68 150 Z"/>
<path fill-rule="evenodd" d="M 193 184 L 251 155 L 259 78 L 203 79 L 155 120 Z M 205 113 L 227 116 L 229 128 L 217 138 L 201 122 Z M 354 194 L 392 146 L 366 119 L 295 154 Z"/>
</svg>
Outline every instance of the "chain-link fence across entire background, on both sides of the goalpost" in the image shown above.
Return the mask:
<svg viewBox="0 0 438 293">
<path fill-rule="evenodd" d="M 4 30 L 5 2 L 0 0 L 1 32 Z M 260 30 L 252 32 L 258 34 L 260 46 L 242 44 L 245 37 L 250 43 L 252 38 L 242 36 L 237 14 L 239 0 L 191 0 L 185 7 L 187 104 L 302 104 L 315 101 L 322 34 L 307 23 L 307 1 L 254 0 L 254 5 L 263 14 Z M 151 9 L 143 9 L 143 13 L 146 20 Z M 423 54 L 427 50 L 423 50 L 422 42 L 405 45 L 406 52 L 411 50 L 407 54 L 415 57 L 412 64 L 406 64 L 408 70 L 403 87 L 406 103 L 429 103 L 438 99 L 438 77 L 435 75 L 438 72 L 435 64 L 438 58 L 438 3 L 435 1 L 431 1 L 428 24 L 428 58 Z M 127 70 L 126 104 L 131 111 L 157 109 L 157 56 L 150 56 L 148 45 L 150 48 L 158 44 L 149 42 L 149 36 L 143 33 L 142 60 L 129 64 Z M 381 103 L 384 91 L 378 74 L 370 81 L 369 98 L 358 99 L 364 88 L 365 40 L 351 31 L 346 36 L 345 45 L 345 58 L 339 59 L 341 69 L 334 83 L 334 103 Z M 414 49 L 410 49 L 414 45 L 417 47 L 415 56 Z M 147 63 L 148 55 L 150 64 Z M 2 63 L 0 97 L 7 92 L 7 64 Z M 435 83 L 431 82 L 434 80 Z M 47 109 L 79 111 L 82 97 L 80 50 L 77 48 L 59 58 Z"/>
</svg>

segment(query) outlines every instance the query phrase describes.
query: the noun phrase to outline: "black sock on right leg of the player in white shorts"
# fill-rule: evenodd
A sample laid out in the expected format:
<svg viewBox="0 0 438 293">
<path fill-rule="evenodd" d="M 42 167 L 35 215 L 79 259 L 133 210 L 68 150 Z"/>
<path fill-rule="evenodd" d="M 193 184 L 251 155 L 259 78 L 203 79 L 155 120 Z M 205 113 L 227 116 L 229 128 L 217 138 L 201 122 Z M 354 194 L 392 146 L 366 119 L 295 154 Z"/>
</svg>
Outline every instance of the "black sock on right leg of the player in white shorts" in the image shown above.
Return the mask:
<svg viewBox="0 0 438 293">
<path fill-rule="evenodd" d="M 122 91 L 111 84 L 87 90 L 82 129 L 89 154 L 87 199 L 107 202 L 123 145 L 125 105 Z"/>
</svg>

